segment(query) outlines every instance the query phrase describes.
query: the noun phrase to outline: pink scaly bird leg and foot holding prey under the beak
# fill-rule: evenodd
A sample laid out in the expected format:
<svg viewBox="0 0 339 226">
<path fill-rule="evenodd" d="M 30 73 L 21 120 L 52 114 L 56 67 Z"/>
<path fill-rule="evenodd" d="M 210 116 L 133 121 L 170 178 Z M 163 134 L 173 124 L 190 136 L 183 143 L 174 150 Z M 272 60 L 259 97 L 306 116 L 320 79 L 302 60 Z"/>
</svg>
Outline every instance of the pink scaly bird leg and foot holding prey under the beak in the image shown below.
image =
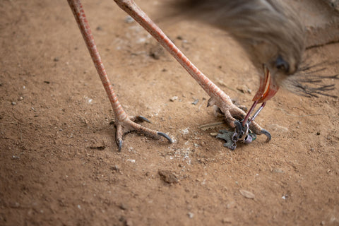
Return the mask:
<svg viewBox="0 0 339 226">
<path fill-rule="evenodd" d="M 199 71 L 194 64 L 189 61 L 189 59 L 174 45 L 174 43 L 169 40 L 160 28 L 153 23 L 150 18 L 139 8 L 134 1 L 132 0 L 114 0 L 120 8 L 122 8 L 126 13 L 128 13 L 134 20 L 136 20 L 145 30 L 147 30 L 150 35 L 155 37 L 155 39 L 160 42 L 162 47 L 165 47 L 167 51 L 172 54 L 172 56 L 179 61 L 186 71 L 201 85 L 201 88 L 210 95 L 210 100 L 208 100 L 208 106 L 216 105 L 219 107 L 220 111 L 225 114 L 226 121 L 230 126 L 239 127 L 242 126 L 239 121 L 246 117 L 246 113 L 239 109 L 236 105 L 232 103 L 232 100 L 228 95 L 226 95 L 217 85 L 215 85 L 210 79 L 208 79 L 201 71 Z M 242 126 L 243 127 L 243 126 Z M 242 127 L 239 127 L 242 129 Z M 255 121 L 251 121 L 250 129 L 256 134 L 265 134 L 267 136 L 267 141 L 270 140 L 270 133 L 265 129 L 261 128 Z"/>
</svg>

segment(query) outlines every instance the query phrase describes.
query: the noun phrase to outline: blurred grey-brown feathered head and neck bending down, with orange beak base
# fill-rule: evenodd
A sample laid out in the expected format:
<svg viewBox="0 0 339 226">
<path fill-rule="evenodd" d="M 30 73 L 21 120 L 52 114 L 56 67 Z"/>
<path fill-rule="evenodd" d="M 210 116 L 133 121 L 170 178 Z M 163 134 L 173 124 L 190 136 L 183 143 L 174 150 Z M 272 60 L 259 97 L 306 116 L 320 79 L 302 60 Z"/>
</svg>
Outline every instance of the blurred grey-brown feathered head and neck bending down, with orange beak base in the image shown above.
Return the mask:
<svg viewBox="0 0 339 226">
<path fill-rule="evenodd" d="M 304 26 L 285 1 L 181 0 L 174 6 L 187 18 L 227 30 L 256 69 L 264 69 L 254 100 L 266 102 L 273 97 L 302 62 Z"/>
</svg>

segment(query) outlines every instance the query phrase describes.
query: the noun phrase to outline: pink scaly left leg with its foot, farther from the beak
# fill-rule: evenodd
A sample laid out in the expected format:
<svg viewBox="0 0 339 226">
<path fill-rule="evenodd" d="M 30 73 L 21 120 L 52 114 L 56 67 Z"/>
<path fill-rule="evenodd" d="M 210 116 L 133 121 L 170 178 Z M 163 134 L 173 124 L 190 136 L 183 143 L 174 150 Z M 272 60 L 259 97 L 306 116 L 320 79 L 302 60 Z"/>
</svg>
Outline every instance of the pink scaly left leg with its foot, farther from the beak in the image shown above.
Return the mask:
<svg viewBox="0 0 339 226">
<path fill-rule="evenodd" d="M 109 97 L 109 101 L 112 104 L 113 112 L 114 112 L 114 123 L 117 127 L 116 132 L 116 141 L 119 147 L 119 151 L 122 147 L 122 136 L 124 133 L 129 131 L 140 131 L 141 133 L 145 133 L 145 135 L 153 136 L 155 138 L 160 138 L 163 136 L 167 138 L 167 140 L 172 143 L 172 139 L 167 136 L 167 134 L 148 129 L 144 126 L 136 124 L 134 121 L 148 121 L 144 117 L 129 117 L 122 106 L 119 103 L 117 95 L 114 93 L 113 87 L 109 82 L 107 73 L 105 71 L 104 65 L 102 64 L 99 52 L 97 51 L 97 47 L 95 45 L 92 32 L 90 31 L 90 25 L 88 25 L 88 21 L 85 17 L 85 12 L 83 11 L 83 6 L 81 5 L 80 0 L 68 0 L 69 6 L 71 7 L 74 17 L 76 18 L 76 22 L 81 30 L 81 34 L 83 35 L 83 39 L 85 40 L 86 46 L 88 47 L 88 51 L 90 52 L 90 57 L 92 57 L 95 68 L 97 69 L 97 73 L 100 76 L 102 81 L 102 85 L 106 90 L 106 93 Z M 149 122 L 149 121 L 148 121 Z"/>
</svg>

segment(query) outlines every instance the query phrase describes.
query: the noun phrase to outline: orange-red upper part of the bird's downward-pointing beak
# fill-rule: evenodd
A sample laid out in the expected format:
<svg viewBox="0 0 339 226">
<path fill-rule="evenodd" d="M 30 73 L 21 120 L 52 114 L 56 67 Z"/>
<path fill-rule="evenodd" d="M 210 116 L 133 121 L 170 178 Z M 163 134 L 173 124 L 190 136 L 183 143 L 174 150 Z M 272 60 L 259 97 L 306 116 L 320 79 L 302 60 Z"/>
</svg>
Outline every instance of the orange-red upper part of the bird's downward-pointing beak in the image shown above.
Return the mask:
<svg viewBox="0 0 339 226">
<path fill-rule="evenodd" d="M 258 103 L 270 100 L 270 98 L 272 98 L 279 89 L 278 85 L 272 78 L 270 71 L 265 65 L 263 65 L 263 73 L 264 77 L 260 78 L 259 89 L 253 97 L 253 101 L 258 101 Z"/>
</svg>

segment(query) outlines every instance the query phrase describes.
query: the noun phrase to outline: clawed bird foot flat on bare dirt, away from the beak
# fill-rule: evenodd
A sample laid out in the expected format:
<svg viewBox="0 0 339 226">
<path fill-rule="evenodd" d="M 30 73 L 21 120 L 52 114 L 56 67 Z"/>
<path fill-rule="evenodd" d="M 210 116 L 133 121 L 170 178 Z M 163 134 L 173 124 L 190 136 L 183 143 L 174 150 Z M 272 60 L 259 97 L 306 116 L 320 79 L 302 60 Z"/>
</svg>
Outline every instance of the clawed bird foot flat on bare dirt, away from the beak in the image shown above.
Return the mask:
<svg viewBox="0 0 339 226">
<path fill-rule="evenodd" d="M 117 129 L 115 141 L 117 142 L 119 151 L 121 151 L 122 144 L 123 144 L 122 137 L 124 136 L 125 133 L 129 133 L 131 131 L 138 131 L 140 133 L 145 134 L 146 136 L 150 136 L 153 138 L 160 138 L 162 136 L 162 137 L 165 137 L 167 141 L 169 141 L 169 143 L 173 143 L 172 138 L 170 138 L 166 133 L 155 131 L 153 129 L 148 129 L 145 126 L 141 126 L 140 124 L 136 123 L 136 122 L 143 122 L 143 121 L 150 123 L 150 121 L 143 116 L 127 117 L 124 120 L 117 121 L 114 123 Z"/>
</svg>

